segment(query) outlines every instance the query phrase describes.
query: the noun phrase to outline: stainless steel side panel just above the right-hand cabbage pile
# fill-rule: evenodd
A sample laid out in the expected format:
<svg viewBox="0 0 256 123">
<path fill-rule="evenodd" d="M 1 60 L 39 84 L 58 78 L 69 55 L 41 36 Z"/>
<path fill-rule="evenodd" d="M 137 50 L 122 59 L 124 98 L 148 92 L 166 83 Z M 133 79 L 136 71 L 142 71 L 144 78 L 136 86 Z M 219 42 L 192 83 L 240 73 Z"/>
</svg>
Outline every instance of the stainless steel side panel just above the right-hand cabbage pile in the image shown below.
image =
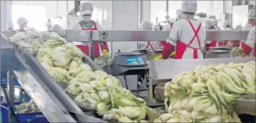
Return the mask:
<svg viewBox="0 0 256 123">
<path fill-rule="evenodd" d="M 229 62 L 244 63 L 255 61 L 251 58 L 215 58 L 215 59 L 175 59 L 175 60 L 153 60 L 150 61 L 150 79 L 172 79 L 182 71 L 194 70 L 197 65 L 228 64 Z M 189 63 L 189 64 L 187 64 Z"/>
</svg>

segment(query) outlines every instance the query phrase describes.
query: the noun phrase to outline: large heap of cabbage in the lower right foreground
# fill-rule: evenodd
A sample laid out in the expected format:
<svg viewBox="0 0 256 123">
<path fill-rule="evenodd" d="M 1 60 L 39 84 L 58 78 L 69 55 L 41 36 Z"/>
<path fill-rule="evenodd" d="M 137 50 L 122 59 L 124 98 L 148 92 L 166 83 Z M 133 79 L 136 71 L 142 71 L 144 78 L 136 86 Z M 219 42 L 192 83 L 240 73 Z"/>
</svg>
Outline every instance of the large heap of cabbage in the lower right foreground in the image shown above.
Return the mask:
<svg viewBox="0 0 256 123">
<path fill-rule="evenodd" d="M 241 122 L 232 102 L 255 93 L 255 62 L 199 65 L 164 88 L 168 113 L 154 122 Z"/>
</svg>

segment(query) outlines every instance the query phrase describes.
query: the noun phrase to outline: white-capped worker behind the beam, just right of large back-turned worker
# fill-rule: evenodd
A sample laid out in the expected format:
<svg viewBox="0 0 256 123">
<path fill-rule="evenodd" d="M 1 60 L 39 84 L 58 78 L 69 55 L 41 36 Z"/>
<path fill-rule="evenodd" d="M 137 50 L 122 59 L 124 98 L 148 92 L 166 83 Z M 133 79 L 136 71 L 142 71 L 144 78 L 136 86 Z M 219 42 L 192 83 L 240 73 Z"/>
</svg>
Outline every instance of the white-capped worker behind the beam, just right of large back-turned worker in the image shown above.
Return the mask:
<svg viewBox="0 0 256 123">
<path fill-rule="evenodd" d="M 214 22 L 212 20 L 206 20 L 205 21 L 205 28 L 208 31 L 217 31 L 218 29 L 214 27 Z M 209 41 L 208 41 L 209 42 Z M 209 47 L 222 47 L 223 42 L 221 41 L 212 41 Z"/>
</svg>

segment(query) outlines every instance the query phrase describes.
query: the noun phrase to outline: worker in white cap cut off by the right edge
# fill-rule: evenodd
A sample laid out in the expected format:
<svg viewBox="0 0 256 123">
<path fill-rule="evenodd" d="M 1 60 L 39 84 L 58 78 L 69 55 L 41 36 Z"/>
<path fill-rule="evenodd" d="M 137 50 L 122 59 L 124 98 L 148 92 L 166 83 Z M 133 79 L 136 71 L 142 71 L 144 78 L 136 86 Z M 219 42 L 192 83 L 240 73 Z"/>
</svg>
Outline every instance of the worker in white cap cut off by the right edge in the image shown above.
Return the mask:
<svg viewBox="0 0 256 123">
<path fill-rule="evenodd" d="M 243 31 L 251 31 L 252 27 L 255 25 L 255 10 L 249 10 L 248 12 L 248 23 L 244 25 Z M 240 42 L 240 48 L 246 48 L 244 40 Z"/>
</svg>

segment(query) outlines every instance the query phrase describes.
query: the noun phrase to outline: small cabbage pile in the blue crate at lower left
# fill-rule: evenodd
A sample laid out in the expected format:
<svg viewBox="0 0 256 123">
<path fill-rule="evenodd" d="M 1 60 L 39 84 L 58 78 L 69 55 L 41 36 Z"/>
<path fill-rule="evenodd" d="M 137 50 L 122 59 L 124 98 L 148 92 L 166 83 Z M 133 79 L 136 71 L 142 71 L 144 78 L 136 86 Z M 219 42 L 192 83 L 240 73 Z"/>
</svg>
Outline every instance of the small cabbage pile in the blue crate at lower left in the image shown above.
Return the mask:
<svg viewBox="0 0 256 123">
<path fill-rule="evenodd" d="M 30 113 L 30 112 L 38 112 L 38 111 L 40 110 L 33 101 L 22 102 L 15 109 L 16 113 Z"/>
</svg>

